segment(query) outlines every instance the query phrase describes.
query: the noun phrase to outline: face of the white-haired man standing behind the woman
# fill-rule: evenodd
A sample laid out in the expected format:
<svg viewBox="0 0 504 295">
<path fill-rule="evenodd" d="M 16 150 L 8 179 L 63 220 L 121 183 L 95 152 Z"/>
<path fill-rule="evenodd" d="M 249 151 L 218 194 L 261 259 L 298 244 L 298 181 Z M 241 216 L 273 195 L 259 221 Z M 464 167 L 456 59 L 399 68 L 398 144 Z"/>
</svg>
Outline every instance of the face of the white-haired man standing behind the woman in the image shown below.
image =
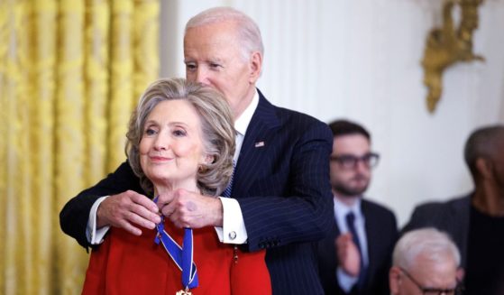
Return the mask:
<svg viewBox="0 0 504 295">
<path fill-rule="evenodd" d="M 261 72 L 261 54 L 244 57 L 240 46 L 234 22 L 190 28 L 184 37 L 186 78 L 224 94 L 235 117 L 252 100 Z"/>
</svg>

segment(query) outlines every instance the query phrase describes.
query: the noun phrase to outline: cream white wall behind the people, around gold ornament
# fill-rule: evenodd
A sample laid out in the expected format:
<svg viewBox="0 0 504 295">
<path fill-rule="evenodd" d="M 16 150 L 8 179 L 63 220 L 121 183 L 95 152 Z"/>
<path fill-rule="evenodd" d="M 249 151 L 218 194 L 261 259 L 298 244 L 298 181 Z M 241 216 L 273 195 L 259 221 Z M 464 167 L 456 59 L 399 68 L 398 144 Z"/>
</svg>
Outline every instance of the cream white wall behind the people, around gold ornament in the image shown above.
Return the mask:
<svg viewBox="0 0 504 295">
<path fill-rule="evenodd" d="M 484 63 L 444 73 L 444 95 L 426 111 L 420 67 L 428 30 L 440 23 L 434 0 L 163 0 L 161 75 L 183 76 L 182 33 L 188 18 L 231 5 L 261 27 L 265 43 L 259 88 L 271 102 L 322 121 L 364 124 L 380 152 L 369 198 L 404 224 L 429 199 L 472 189 L 463 143 L 473 128 L 504 123 L 504 1 L 480 8 L 474 51 Z M 437 4 L 437 5 L 436 5 Z"/>
</svg>

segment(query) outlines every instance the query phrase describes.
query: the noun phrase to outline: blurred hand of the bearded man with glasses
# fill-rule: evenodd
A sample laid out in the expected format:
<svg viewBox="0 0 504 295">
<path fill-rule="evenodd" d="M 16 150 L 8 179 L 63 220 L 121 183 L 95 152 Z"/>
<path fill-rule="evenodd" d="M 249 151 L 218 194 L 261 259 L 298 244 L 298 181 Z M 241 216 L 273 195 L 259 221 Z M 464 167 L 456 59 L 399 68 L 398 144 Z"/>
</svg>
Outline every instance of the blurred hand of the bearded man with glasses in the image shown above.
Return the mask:
<svg viewBox="0 0 504 295">
<path fill-rule="evenodd" d="M 350 276 L 357 277 L 361 271 L 361 254 L 359 248 L 353 243 L 352 234 L 339 235 L 334 241 L 339 266 Z"/>
</svg>

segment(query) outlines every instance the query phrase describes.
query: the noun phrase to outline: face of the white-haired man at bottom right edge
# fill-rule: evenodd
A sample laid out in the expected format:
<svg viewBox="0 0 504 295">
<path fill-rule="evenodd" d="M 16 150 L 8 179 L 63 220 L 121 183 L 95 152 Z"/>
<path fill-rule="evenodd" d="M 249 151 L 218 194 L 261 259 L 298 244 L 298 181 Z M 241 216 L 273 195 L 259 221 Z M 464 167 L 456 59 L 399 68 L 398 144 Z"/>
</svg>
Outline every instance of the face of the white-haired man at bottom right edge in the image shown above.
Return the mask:
<svg viewBox="0 0 504 295">
<path fill-rule="evenodd" d="M 414 267 L 401 270 L 397 266 L 390 269 L 390 292 L 393 295 L 439 294 L 440 290 L 451 290 L 445 294 L 454 295 L 457 286 L 457 266 L 453 259 L 431 262 L 417 259 Z"/>
</svg>

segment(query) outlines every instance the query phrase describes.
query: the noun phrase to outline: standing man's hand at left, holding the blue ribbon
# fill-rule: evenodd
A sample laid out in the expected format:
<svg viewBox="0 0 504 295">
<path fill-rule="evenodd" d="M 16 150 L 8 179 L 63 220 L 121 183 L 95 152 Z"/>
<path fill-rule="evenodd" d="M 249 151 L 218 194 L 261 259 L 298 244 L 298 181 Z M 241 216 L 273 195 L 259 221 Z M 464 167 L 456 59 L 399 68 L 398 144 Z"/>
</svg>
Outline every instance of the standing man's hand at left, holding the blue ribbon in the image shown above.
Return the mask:
<svg viewBox="0 0 504 295">
<path fill-rule="evenodd" d="M 105 198 L 96 211 L 96 227 L 115 226 L 142 235 L 137 226 L 153 229 L 161 221 L 158 212 L 150 198 L 128 190 Z"/>
</svg>

